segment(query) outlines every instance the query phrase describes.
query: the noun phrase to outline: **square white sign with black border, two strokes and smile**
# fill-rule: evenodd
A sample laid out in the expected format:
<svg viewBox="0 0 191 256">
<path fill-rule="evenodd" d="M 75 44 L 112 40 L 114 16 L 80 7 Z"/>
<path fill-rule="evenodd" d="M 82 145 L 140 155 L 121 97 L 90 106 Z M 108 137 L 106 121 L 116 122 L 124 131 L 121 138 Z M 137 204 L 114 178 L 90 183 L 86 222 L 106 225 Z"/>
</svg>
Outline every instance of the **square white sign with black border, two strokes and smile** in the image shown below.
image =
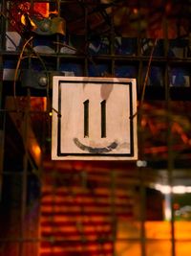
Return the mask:
<svg viewBox="0 0 191 256">
<path fill-rule="evenodd" d="M 138 157 L 135 79 L 53 77 L 52 159 Z"/>
</svg>

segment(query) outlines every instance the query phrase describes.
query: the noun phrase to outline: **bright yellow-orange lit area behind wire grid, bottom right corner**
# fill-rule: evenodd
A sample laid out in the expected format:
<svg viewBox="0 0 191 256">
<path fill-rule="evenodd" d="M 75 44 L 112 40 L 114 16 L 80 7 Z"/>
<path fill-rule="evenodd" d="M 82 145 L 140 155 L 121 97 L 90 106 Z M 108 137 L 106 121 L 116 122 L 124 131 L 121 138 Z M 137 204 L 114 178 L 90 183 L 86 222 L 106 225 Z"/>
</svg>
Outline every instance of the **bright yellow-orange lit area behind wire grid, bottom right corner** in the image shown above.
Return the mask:
<svg viewBox="0 0 191 256">
<path fill-rule="evenodd" d="M 118 225 L 118 238 L 134 238 L 140 234 L 140 225 L 138 227 L 135 223 L 121 223 Z M 169 221 L 146 221 L 146 238 L 156 239 L 156 241 L 146 242 L 147 256 L 169 256 L 171 255 L 171 224 Z M 133 234 L 133 236 L 132 236 Z M 190 239 L 191 239 L 191 221 L 176 221 L 175 222 L 175 236 L 176 236 L 176 255 L 189 256 L 190 255 Z M 164 241 L 169 240 L 169 241 Z M 187 240 L 187 241 L 186 241 Z M 141 255 L 140 244 L 129 241 L 118 241 L 116 243 L 117 255 Z"/>
</svg>

